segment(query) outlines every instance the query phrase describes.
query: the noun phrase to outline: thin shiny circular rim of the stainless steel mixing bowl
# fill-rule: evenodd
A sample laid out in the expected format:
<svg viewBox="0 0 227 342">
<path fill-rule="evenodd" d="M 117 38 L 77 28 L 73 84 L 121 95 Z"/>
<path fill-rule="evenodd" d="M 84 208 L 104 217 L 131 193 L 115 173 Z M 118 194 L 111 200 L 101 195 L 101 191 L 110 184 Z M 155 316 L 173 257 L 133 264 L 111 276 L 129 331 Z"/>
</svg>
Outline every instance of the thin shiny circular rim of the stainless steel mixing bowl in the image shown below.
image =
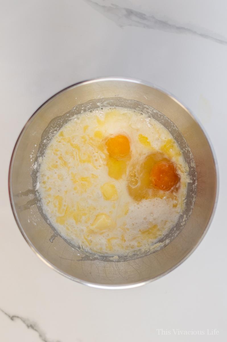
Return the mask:
<svg viewBox="0 0 227 342">
<path fill-rule="evenodd" d="M 213 157 L 213 162 L 214 162 L 214 169 L 215 169 L 215 200 L 214 200 L 214 205 L 213 205 L 213 209 L 212 212 L 210 214 L 209 217 L 209 221 L 207 223 L 207 226 L 205 227 L 203 234 L 201 235 L 200 239 L 197 241 L 197 243 L 193 246 L 193 248 L 191 248 L 187 254 L 175 265 L 173 265 L 172 267 L 170 267 L 169 269 L 167 269 L 165 272 L 160 273 L 159 275 L 157 275 L 154 278 L 151 279 L 147 279 L 144 281 L 139 281 L 139 282 L 133 282 L 133 283 L 129 283 L 129 284 L 125 284 L 125 285 L 103 285 L 103 284 L 98 284 L 98 283 L 93 283 L 93 282 L 89 282 L 89 281 L 85 281 L 76 277 L 73 277 L 69 274 L 67 274 L 66 272 L 61 271 L 58 267 L 56 267 L 55 265 L 53 265 L 51 262 L 49 262 L 46 258 L 43 257 L 43 255 L 36 249 L 36 247 L 34 247 L 34 245 L 32 244 L 32 242 L 29 240 L 29 238 L 27 237 L 27 235 L 25 234 L 22 225 L 20 224 L 20 221 L 18 219 L 17 213 L 16 213 L 16 209 L 15 209 L 15 205 L 14 205 L 14 200 L 13 200 L 13 194 L 12 194 L 12 170 L 13 170 L 13 163 L 14 163 L 14 159 L 15 159 L 15 154 L 17 151 L 17 147 L 20 143 L 20 140 L 22 139 L 22 136 L 25 132 L 25 130 L 28 128 L 29 124 L 32 122 L 33 118 L 38 114 L 39 110 L 44 107 L 46 104 L 48 104 L 49 102 L 51 102 L 52 100 L 54 100 L 55 97 L 57 97 L 58 95 L 68 91 L 69 89 L 72 88 L 76 88 L 78 86 L 81 86 L 83 84 L 89 84 L 89 83 L 94 83 L 94 82 L 102 82 L 102 81 L 126 81 L 126 82 L 132 82 L 132 83 L 137 83 L 137 84 L 141 84 L 143 86 L 148 86 L 150 88 L 153 88 L 155 90 L 158 90 L 161 93 L 164 93 L 165 95 L 169 96 L 173 101 L 175 101 L 176 103 L 178 103 L 181 107 L 183 107 L 187 113 L 191 116 L 191 118 L 193 118 L 193 120 L 198 124 L 198 126 L 201 128 L 202 132 L 205 135 L 205 138 L 207 139 L 208 145 L 211 149 L 211 153 L 212 153 L 212 157 Z M 205 131 L 204 127 L 202 126 L 201 122 L 199 121 L 199 119 L 197 118 L 197 116 L 192 113 L 192 111 L 190 111 L 184 104 L 182 104 L 174 95 L 172 95 L 169 91 L 164 90 L 163 88 L 157 87 L 154 84 L 152 84 L 151 82 L 147 82 L 147 81 L 142 81 L 139 79 L 132 79 L 132 78 L 127 78 L 127 77 L 98 77 L 98 78 L 92 78 L 92 79 L 88 79 L 85 81 L 79 81 L 76 83 L 71 84 L 70 86 L 61 89 L 60 91 L 58 91 L 57 93 L 55 93 L 53 96 L 49 97 L 41 106 L 38 107 L 38 109 L 36 111 L 34 111 L 34 113 L 30 116 L 30 118 L 27 120 L 27 122 L 25 123 L 23 129 L 21 130 L 21 132 L 19 133 L 16 143 L 14 145 L 13 148 L 13 152 L 12 152 L 12 156 L 10 159 L 10 166 L 9 166 L 9 176 L 8 176 L 8 190 L 9 190 L 9 198 L 10 198 L 10 204 L 11 204 L 11 208 L 12 208 L 12 212 L 14 215 L 14 219 L 16 221 L 16 224 L 20 230 L 20 232 L 22 233 L 22 236 L 24 237 L 25 241 L 27 242 L 27 244 L 30 246 L 30 248 L 33 250 L 34 253 L 36 253 L 36 255 L 50 268 L 54 269 L 55 271 L 57 271 L 59 274 L 73 280 L 76 282 L 79 282 L 81 284 L 90 286 L 90 287 L 95 287 L 95 288 L 101 288 L 101 289 L 126 289 L 126 288 L 133 288 L 133 287 L 138 287 L 144 284 L 147 284 L 148 282 L 154 281 L 168 273 L 170 273 L 171 271 L 173 271 L 173 269 L 175 269 L 176 267 L 180 266 L 194 251 L 195 249 L 199 246 L 200 242 L 202 241 L 202 239 L 204 238 L 204 236 L 207 234 L 208 229 L 211 225 L 211 222 L 213 220 L 214 217 L 214 213 L 217 207 L 217 201 L 218 201 L 218 193 L 219 193 L 219 172 L 218 172 L 218 164 L 217 164 L 217 158 L 215 155 L 215 151 L 214 148 L 212 146 L 212 143 L 210 141 L 210 138 L 207 134 L 207 132 Z"/>
</svg>

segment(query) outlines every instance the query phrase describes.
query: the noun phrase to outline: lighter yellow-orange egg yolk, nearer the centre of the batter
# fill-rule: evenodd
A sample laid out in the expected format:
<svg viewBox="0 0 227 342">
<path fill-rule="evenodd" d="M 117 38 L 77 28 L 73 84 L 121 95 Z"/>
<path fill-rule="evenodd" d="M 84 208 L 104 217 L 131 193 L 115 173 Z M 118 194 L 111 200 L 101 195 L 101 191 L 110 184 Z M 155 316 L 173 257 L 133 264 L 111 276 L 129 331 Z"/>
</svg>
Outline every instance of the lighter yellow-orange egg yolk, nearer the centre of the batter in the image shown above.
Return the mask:
<svg viewBox="0 0 227 342">
<path fill-rule="evenodd" d="M 117 160 L 124 159 L 130 153 L 130 143 L 125 135 L 112 136 L 105 144 L 109 155 Z"/>
</svg>

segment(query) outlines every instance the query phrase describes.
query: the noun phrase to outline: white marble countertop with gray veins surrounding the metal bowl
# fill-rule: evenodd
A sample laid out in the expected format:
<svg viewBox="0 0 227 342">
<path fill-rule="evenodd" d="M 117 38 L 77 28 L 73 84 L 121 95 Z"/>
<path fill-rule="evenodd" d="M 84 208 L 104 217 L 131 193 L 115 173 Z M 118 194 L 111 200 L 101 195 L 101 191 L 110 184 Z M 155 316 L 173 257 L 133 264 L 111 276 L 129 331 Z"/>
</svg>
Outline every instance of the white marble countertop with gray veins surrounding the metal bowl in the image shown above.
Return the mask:
<svg viewBox="0 0 227 342">
<path fill-rule="evenodd" d="M 1 2 L 0 341 L 226 340 L 226 13 L 225 0 Z M 26 120 L 55 92 L 97 76 L 139 78 L 174 94 L 202 122 L 219 164 L 218 206 L 200 246 L 170 274 L 128 290 L 89 288 L 47 267 L 8 198 Z"/>
</svg>

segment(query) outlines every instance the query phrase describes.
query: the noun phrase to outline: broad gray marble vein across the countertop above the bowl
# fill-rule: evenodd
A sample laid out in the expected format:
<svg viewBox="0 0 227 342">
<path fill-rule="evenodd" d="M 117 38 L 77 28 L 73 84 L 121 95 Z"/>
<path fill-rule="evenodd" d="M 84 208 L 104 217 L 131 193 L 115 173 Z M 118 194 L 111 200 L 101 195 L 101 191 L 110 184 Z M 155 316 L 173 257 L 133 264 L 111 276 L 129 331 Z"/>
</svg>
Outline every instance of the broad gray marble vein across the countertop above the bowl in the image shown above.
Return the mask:
<svg viewBox="0 0 227 342">
<path fill-rule="evenodd" d="M 156 29 L 166 32 L 174 32 L 178 34 L 190 34 L 204 39 L 208 39 L 215 43 L 227 45 L 227 38 L 222 37 L 214 32 L 209 32 L 205 28 L 184 27 L 170 23 L 169 21 L 160 20 L 154 15 L 145 14 L 132 10 L 130 8 L 111 5 L 101 5 L 93 0 L 84 0 L 96 11 L 115 22 L 119 27 L 136 26 L 147 29 Z"/>
</svg>

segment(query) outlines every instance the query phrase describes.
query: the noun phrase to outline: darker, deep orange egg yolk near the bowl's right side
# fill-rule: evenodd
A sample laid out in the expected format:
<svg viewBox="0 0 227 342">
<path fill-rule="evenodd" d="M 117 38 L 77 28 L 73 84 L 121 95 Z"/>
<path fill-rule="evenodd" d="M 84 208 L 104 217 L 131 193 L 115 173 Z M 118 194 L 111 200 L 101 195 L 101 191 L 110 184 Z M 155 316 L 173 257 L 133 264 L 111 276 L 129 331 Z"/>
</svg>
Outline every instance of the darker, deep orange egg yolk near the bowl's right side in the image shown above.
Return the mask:
<svg viewBox="0 0 227 342">
<path fill-rule="evenodd" d="M 158 161 L 152 168 L 150 180 L 160 190 L 169 191 L 179 182 L 173 163 L 167 160 Z"/>
</svg>

